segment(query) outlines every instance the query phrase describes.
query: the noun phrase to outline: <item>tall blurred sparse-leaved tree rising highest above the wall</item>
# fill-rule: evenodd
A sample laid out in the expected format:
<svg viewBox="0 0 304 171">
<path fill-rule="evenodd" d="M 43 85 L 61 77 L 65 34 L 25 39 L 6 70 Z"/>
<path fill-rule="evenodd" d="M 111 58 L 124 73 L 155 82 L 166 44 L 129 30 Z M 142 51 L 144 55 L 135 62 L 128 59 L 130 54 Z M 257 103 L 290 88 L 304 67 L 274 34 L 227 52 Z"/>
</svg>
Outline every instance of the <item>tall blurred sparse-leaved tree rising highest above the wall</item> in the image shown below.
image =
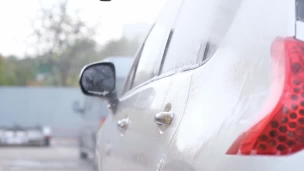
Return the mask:
<svg viewBox="0 0 304 171">
<path fill-rule="evenodd" d="M 89 38 L 91 29 L 79 17 L 68 12 L 67 0 L 60 1 L 53 8 L 41 8 L 40 19 L 34 25 L 39 48 L 47 58 L 50 73 L 56 75 L 52 81 L 58 85 L 67 85 L 71 58 L 75 54 L 66 53 L 66 49 L 74 46 L 79 39 Z"/>
</svg>

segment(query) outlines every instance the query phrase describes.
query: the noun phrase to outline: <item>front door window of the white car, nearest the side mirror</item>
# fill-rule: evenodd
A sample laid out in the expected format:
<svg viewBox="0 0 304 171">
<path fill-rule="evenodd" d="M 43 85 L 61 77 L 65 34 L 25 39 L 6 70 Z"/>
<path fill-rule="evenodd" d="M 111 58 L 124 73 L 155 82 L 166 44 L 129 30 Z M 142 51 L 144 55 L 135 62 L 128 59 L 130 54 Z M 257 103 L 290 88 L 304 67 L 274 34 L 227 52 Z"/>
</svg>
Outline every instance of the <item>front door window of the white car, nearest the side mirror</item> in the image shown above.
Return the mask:
<svg viewBox="0 0 304 171">
<path fill-rule="evenodd" d="M 174 1 L 174 3 L 171 3 Z M 140 47 L 130 71 L 124 92 L 159 74 L 165 48 L 172 35 L 172 25 L 182 0 L 168 0 Z M 165 51 L 165 52 L 164 52 Z"/>
</svg>

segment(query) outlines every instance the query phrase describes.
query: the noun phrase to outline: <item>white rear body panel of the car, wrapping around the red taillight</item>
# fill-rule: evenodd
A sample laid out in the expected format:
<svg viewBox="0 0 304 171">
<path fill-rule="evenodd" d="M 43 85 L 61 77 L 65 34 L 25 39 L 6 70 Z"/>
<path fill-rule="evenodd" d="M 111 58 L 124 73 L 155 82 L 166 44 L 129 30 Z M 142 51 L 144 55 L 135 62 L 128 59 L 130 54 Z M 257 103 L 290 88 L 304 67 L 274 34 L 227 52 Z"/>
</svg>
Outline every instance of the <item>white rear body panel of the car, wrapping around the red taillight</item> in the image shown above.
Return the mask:
<svg viewBox="0 0 304 171">
<path fill-rule="evenodd" d="M 160 170 L 284 170 L 295 162 L 291 158 L 298 161 L 301 154 L 286 158 L 225 154 L 242 131 L 266 114 L 260 111 L 270 92 L 271 42 L 278 35 L 294 34 L 285 13 L 268 12 L 274 3 L 276 11 L 290 6 L 284 0 L 243 0 L 217 52 L 193 69 L 185 116 Z M 270 16 L 263 17 L 265 13 Z"/>
</svg>

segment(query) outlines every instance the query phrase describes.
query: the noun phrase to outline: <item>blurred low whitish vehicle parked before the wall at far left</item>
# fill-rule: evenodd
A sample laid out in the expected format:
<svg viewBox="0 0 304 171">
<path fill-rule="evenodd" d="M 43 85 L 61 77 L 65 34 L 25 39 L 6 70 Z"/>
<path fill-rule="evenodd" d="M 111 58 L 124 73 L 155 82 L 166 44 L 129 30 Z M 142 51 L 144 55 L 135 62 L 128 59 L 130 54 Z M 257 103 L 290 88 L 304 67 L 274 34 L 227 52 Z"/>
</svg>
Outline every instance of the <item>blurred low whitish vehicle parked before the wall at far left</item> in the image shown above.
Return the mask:
<svg viewBox="0 0 304 171">
<path fill-rule="evenodd" d="M 38 145 L 49 146 L 51 129 L 48 126 L 12 126 L 0 127 L 0 145 Z"/>
</svg>

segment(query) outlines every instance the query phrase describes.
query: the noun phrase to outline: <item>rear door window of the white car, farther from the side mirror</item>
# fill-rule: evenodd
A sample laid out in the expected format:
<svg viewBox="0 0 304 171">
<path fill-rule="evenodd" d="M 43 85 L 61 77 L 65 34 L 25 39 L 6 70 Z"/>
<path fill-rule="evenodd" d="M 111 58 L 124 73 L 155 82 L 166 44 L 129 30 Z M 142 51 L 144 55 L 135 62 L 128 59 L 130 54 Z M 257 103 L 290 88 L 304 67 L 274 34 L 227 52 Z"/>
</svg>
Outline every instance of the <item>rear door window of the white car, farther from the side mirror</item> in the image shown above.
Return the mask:
<svg viewBox="0 0 304 171">
<path fill-rule="evenodd" d="M 241 0 L 185 0 L 161 73 L 199 63 L 214 54 L 232 23 Z M 198 4 L 197 4 L 198 3 Z M 233 11 L 235 10 L 235 11 Z"/>
</svg>

